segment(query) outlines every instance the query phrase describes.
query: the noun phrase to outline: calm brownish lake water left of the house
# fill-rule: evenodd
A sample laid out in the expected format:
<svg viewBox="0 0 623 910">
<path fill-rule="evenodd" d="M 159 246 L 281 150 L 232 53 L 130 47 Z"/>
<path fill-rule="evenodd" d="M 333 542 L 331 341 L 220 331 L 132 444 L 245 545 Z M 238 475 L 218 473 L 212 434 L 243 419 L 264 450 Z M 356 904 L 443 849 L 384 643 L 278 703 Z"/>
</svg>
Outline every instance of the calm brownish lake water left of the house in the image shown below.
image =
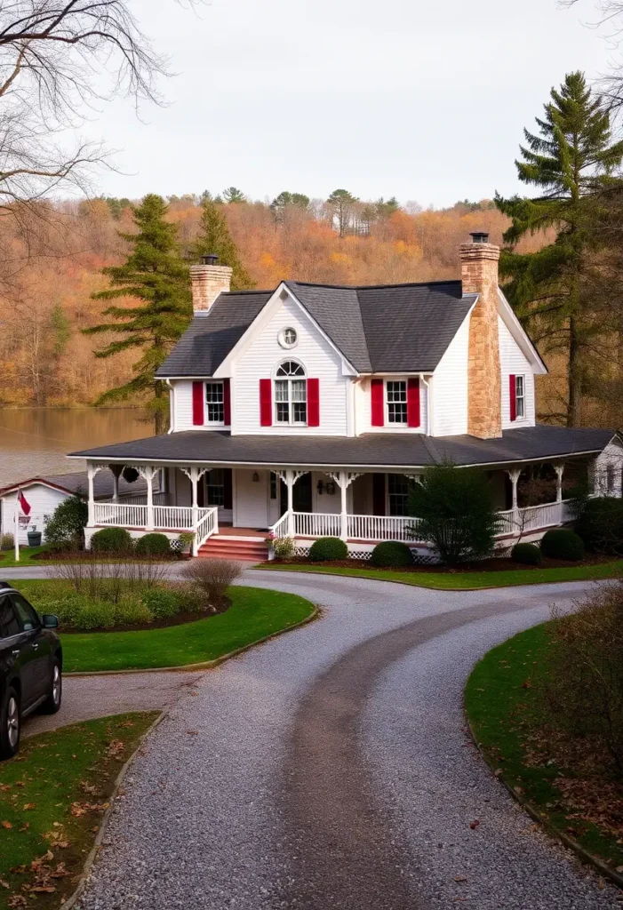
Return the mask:
<svg viewBox="0 0 623 910">
<path fill-rule="evenodd" d="M 154 435 L 145 411 L 0 409 L 0 488 L 37 474 L 85 470 L 67 452 Z"/>
</svg>

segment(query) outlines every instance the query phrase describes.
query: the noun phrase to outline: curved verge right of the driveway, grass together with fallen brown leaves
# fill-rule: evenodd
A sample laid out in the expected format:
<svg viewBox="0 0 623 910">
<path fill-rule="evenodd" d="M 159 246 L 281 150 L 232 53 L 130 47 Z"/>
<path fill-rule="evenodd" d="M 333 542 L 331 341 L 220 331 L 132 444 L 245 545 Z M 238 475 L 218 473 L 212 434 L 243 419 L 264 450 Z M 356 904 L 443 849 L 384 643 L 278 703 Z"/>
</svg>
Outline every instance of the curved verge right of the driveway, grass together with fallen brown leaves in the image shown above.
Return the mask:
<svg viewBox="0 0 623 910">
<path fill-rule="evenodd" d="M 548 673 L 549 623 L 488 652 L 467 682 L 467 719 L 487 763 L 551 832 L 623 881 L 623 784 L 590 743 L 552 732 L 538 690 Z"/>
</svg>

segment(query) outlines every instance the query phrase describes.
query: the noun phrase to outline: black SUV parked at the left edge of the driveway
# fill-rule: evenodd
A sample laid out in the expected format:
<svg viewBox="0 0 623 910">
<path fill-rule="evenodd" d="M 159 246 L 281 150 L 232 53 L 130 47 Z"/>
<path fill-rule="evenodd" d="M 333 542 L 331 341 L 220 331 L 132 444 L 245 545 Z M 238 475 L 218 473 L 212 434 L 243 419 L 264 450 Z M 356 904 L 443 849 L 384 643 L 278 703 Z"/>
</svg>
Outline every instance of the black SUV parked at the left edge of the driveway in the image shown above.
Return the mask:
<svg viewBox="0 0 623 910">
<path fill-rule="evenodd" d="M 55 616 L 39 616 L 25 597 L 0 581 L 0 759 L 19 749 L 22 718 L 61 706 L 63 650 Z"/>
</svg>

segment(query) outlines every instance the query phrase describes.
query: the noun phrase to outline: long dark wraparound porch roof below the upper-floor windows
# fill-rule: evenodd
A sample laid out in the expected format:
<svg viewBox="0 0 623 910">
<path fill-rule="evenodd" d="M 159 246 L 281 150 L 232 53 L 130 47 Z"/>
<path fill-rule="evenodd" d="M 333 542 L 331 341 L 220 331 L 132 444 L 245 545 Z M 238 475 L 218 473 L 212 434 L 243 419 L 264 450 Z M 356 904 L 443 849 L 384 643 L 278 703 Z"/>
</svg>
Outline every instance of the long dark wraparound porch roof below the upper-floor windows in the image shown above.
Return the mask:
<svg viewBox="0 0 623 910">
<path fill-rule="evenodd" d="M 231 436 L 215 430 L 190 430 L 72 452 L 69 457 L 128 463 L 171 461 L 413 469 L 444 460 L 463 466 L 492 465 L 595 453 L 603 450 L 613 436 L 613 430 L 546 425 L 506 430 L 497 440 L 478 440 L 467 435 L 431 437 L 419 433 L 367 433 L 357 437 Z"/>
</svg>

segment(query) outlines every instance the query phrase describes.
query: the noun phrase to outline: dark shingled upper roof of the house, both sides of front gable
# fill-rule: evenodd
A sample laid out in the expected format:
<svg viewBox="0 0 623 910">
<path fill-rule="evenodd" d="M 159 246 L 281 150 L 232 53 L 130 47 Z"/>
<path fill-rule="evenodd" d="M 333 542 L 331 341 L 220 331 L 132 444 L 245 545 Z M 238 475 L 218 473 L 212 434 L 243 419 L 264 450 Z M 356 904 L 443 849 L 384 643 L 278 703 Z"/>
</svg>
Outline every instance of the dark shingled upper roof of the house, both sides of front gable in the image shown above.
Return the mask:
<svg viewBox="0 0 623 910">
<path fill-rule="evenodd" d="M 360 373 L 429 371 L 476 300 L 460 281 L 342 288 L 286 281 L 312 319 Z M 212 376 L 273 291 L 220 294 L 196 316 L 156 375 Z"/>
</svg>

